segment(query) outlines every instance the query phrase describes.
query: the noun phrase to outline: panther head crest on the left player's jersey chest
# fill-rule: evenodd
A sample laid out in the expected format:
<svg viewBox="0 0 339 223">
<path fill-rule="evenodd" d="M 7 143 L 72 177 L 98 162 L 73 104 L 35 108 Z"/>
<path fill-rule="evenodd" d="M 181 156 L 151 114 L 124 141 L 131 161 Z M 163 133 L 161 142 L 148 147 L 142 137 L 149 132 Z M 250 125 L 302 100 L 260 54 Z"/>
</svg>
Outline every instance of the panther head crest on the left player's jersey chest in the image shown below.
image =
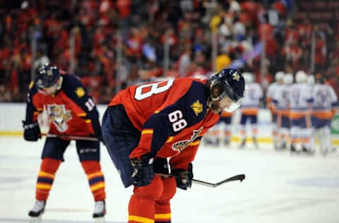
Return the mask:
<svg viewBox="0 0 339 223">
<path fill-rule="evenodd" d="M 56 126 L 61 133 L 65 132 L 69 128 L 67 122 L 72 119 L 72 112 L 66 110 L 64 104 L 48 104 L 47 108 L 54 126 Z"/>
</svg>

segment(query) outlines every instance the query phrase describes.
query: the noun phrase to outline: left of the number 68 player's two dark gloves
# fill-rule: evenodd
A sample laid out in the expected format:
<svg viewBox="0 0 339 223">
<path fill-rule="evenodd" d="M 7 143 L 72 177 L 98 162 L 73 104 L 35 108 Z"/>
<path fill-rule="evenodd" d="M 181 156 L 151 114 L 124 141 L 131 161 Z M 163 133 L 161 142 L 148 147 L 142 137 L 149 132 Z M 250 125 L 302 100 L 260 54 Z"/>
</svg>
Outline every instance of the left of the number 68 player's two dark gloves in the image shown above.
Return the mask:
<svg viewBox="0 0 339 223">
<path fill-rule="evenodd" d="M 146 154 L 138 159 L 131 158 L 133 167 L 132 179 L 134 186 L 146 186 L 152 182 L 154 178 L 153 157 Z"/>
</svg>

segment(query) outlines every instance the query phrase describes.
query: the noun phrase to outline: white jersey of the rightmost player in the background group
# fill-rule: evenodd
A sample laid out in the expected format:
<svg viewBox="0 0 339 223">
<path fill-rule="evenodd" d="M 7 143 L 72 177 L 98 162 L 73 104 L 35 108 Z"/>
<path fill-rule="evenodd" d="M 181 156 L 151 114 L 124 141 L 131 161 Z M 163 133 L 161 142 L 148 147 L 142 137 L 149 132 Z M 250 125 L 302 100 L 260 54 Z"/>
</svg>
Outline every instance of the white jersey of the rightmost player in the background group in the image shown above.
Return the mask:
<svg viewBox="0 0 339 223">
<path fill-rule="evenodd" d="M 312 115 L 319 119 L 331 119 L 336 108 L 338 97 L 331 85 L 316 84 L 313 90 L 314 103 Z"/>
</svg>

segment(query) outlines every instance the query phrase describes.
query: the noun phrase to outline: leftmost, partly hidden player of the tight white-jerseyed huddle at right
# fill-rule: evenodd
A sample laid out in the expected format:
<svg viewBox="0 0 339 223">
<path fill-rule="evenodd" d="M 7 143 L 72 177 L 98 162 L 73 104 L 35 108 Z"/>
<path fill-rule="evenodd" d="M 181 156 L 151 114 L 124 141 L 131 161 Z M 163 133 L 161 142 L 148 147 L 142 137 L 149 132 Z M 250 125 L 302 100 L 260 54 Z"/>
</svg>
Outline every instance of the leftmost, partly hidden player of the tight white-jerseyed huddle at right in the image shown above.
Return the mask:
<svg viewBox="0 0 339 223">
<path fill-rule="evenodd" d="M 285 73 L 283 71 L 278 71 L 275 73 L 275 82 L 271 83 L 266 90 L 266 105 L 268 109 L 270 109 L 270 113 L 272 115 L 272 138 L 275 149 L 278 148 L 277 111 L 274 109 L 272 98 L 275 94 L 275 87 L 278 85 L 278 83 L 283 83 L 284 76 Z"/>
</svg>

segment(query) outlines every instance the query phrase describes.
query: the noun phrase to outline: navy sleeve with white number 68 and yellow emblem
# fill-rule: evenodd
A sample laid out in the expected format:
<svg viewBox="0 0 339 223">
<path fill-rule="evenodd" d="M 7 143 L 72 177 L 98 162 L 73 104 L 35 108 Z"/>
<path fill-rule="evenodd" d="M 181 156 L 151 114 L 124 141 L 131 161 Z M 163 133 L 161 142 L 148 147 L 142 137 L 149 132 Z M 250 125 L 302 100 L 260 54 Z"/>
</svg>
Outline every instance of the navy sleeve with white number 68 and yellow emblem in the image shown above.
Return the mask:
<svg viewBox="0 0 339 223">
<path fill-rule="evenodd" d="M 150 116 L 143 129 L 153 131 L 150 144 L 152 155 L 157 154 L 169 136 L 177 135 L 204 119 L 207 112 L 206 95 L 205 85 L 194 81 L 177 102 Z"/>
</svg>

